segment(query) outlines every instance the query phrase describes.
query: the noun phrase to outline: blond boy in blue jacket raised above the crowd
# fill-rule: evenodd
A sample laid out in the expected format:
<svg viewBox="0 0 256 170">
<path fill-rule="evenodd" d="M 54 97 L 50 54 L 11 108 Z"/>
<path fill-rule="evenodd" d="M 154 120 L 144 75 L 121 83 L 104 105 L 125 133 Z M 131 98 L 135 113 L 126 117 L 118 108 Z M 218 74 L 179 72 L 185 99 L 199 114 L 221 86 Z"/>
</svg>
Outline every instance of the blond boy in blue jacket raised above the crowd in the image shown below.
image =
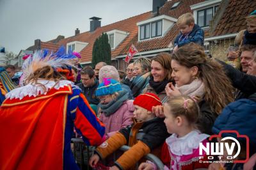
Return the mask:
<svg viewBox="0 0 256 170">
<path fill-rule="evenodd" d="M 200 26 L 195 24 L 192 13 L 184 13 L 181 15 L 177 20 L 177 26 L 180 33 L 175 38 L 173 52 L 190 42 L 204 46 L 204 31 Z"/>
</svg>

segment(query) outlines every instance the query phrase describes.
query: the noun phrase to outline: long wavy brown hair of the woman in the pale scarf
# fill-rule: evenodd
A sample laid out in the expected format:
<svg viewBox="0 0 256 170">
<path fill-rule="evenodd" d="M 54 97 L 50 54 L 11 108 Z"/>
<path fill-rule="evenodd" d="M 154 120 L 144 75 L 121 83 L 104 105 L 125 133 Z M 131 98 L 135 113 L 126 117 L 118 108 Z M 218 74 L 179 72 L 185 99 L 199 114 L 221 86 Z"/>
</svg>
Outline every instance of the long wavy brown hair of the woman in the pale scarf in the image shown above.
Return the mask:
<svg viewBox="0 0 256 170">
<path fill-rule="evenodd" d="M 204 99 L 209 103 L 212 111 L 220 114 L 222 109 L 233 101 L 234 89 L 223 67 L 216 60 L 208 58 L 200 45 L 196 43 L 184 45 L 173 53 L 172 59 L 188 68 L 198 67 L 196 77 L 204 82 Z"/>
</svg>

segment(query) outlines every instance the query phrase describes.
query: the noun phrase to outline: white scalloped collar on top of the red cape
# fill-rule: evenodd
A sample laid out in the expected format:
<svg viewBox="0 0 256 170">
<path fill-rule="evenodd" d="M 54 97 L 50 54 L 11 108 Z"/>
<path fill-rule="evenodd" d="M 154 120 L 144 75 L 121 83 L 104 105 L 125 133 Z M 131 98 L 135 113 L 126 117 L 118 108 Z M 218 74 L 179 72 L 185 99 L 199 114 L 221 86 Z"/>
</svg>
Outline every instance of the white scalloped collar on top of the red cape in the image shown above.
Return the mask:
<svg viewBox="0 0 256 170">
<path fill-rule="evenodd" d="M 70 82 L 67 80 L 60 81 L 58 84 L 56 84 L 56 82 L 54 82 L 54 81 L 47 81 L 47 80 L 43 80 L 43 79 L 38 80 L 38 82 L 41 84 L 44 84 L 46 90 L 38 84 L 29 83 L 26 86 L 22 86 L 20 88 L 13 89 L 9 93 L 7 93 L 5 95 L 5 97 L 10 98 L 11 100 L 13 98 L 19 98 L 21 100 L 22 98 L 24 98 L 26 96 L 37 97 L 38 95 L 42 95 L 42 94 L 45 95 L 51 88 L 60 89 L 60 88 L 63 88 L 64 86 L 74 84 L 73 82 Z M 56 86 L 55 86 L 55 84 L 56 84 Z"/>
</svg>

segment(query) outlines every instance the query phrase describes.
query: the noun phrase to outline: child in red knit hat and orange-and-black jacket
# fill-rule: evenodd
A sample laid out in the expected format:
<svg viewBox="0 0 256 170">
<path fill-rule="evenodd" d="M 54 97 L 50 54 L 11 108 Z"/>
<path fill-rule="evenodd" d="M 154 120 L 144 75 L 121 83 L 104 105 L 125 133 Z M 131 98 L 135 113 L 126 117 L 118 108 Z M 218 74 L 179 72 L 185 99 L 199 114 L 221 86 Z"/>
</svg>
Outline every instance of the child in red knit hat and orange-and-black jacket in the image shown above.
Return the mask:
<svg viewBox="0 0 256 170">
<path fill-rule="evenodd" d="M 168 132 L 163 118 L 156 117 L 152 107 L 162 105 L 161 100 L 153 93 L 145 93 L 136 97 L 133 104 L 134 123 L 102 143 L 90 158 L 90 166 L 96 166 L 100 159 L 106 158 L 125 144 L 131 148 L 115 161 L 113 169 L 131 169 L 148 153 L 157 156 L 160 154 L 161 145 L 168 137 Z"/>
</svg>

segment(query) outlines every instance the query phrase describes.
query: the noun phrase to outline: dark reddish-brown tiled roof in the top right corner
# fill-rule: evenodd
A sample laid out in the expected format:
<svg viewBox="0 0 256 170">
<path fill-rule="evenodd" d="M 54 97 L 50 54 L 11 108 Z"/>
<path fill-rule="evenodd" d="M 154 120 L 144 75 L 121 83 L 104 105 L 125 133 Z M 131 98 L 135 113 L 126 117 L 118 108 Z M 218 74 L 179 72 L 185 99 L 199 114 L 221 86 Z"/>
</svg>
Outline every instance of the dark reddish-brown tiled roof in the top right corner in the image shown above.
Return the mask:
<svg viewBox="0 0 256 170">
<path fill-rule="evenodd" d="M 242 29 L 246 29 L 244 17 L 255 9 L 255 0 L 230 0 L 220 22 L 214 30 L 213 36 L 237 33 Z"/>
</svg>

